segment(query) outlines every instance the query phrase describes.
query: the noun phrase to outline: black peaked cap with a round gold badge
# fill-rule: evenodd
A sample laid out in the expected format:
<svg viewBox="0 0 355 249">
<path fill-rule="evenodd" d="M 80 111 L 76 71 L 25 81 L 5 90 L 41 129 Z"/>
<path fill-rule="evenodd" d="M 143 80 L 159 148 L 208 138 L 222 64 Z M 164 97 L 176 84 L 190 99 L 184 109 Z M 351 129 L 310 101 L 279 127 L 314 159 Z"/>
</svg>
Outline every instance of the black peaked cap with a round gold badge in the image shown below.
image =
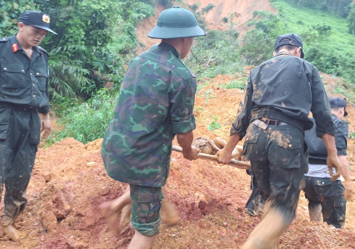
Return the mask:
<svg viewBox="0 0 355 249">
<path fill-rule="evenodd" d="M 28 10 L 21 13 L 18 18 L 18 22 L 22 22 L 23 24 L 31 25 L 37 28 L 41 28 L 47 30 L 49 32 L 55 33 L 53 30 L 49 28 L 50 26 L 50 18 L 49 15 L 43 12 Z"/>
</svg>

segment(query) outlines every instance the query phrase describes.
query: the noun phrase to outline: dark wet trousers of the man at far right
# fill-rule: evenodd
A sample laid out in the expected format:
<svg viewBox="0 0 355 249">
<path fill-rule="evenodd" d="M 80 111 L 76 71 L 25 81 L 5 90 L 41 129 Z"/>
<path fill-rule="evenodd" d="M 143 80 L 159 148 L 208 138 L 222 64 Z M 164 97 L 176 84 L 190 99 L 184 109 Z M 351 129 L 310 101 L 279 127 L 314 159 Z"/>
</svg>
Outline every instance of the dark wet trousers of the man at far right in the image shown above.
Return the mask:
<svg viewBox="0 0 355 249">
<path fill-rule="evenodd" d="M 346 199 L 343 196 L 344 186 L 340 180 L 304 176 L 305 197 L 308 199 L 308 210 L 311 221 L 323 221 L 328 225 L 343 229 L 345 226 Z"/>
</svg>

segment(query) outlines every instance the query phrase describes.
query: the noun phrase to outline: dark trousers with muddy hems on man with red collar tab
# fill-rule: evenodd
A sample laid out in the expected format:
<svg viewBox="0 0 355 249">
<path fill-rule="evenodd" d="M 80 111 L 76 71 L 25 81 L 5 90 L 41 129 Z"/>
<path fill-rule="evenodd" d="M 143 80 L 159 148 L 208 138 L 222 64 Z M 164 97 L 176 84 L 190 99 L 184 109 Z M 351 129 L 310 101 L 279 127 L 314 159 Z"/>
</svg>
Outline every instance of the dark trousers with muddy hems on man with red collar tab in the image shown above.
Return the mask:
<svg viewBox="0 0 355 249">
<path fill-rule="evenodd" d="M 12 225 L 26 207 L 26 188 L 39 136 L 37 110 L 17 111 L 0 106 L 0 196 L 5 185 L 2 226 Z"/>
</svg>

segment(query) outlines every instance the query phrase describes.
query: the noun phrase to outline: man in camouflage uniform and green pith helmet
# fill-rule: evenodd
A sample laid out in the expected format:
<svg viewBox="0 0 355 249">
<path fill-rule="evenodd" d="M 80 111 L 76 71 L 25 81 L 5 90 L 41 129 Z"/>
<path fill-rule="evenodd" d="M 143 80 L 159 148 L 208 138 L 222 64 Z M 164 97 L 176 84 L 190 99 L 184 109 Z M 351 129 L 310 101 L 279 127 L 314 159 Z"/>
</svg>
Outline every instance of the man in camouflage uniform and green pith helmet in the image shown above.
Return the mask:
<svg viewBox="0 0 355 249">
<path fill-rule="evenodd" d="M 199 150 L 191 146 L 196 77 L 181 59 L 189 53 L 193 38 L 202 35 L 206 33 L 191 11 L 179 6 L 163 11 L 148 34 L 162 43 L 136 57 L 122 81 L 102 158 L 110 177 L 130 184 L 135 229 L 130 249 L 151 248 L 159 232 L 161 188 L 169 176 L 175 135 L 184 157 L 197 159 Z M 104 203 L 104 216 L 127 204 L 119 203 L 120 198 Z"/>
</svg>

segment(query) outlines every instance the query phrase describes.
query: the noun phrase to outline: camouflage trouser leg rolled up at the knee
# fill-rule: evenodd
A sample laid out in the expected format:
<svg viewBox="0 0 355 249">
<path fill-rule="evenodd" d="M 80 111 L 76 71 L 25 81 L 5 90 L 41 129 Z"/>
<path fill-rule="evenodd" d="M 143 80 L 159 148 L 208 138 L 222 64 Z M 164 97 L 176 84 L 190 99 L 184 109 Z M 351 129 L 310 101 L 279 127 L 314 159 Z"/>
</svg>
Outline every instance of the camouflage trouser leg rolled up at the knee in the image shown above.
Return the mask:
<svg viewBox="0 0 355 249">
<path fill-rule="evenodd" d="M 159 233 L 163 192 L 162 188 L 130 184 L 132 227 L 146 236 Z"/>
</svg>

